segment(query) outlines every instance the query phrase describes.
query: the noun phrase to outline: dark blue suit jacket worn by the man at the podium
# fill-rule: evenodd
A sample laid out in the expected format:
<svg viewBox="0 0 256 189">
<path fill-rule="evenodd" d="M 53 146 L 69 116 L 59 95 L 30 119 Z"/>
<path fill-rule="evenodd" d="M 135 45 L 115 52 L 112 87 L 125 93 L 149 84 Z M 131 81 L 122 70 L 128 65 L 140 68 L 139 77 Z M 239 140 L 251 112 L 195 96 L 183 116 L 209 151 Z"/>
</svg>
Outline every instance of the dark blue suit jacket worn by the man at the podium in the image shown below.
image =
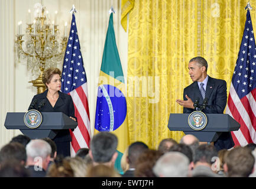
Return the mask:
<svg viewBox="0 0 256 189">
<path fill-rule="evenodd" d="M 193 102 L 199 99 L 199 105 L 203 104 L 203 97 L 200 92 L 197 82 L 193 82 L 184 89 L 183 99 L 186 99 L 186 95 L 192 99 Z M 204 113 L 223 113 L 226 107 L 226 82 L 221 79 L 214 79 L 209 76 L 208 83 L 206 85 L 205 99 L 208 98 L 208 105 L 202 112 Z M 195 109 L 189 109 L 184 107 L 183 113 L 192 113 Z M 219 139 L 215 142 L 215 147 L 219 151 L 220 149 L 229 149 L 234 146 L 230 132 L 223 132 Z"/>
</svg>

